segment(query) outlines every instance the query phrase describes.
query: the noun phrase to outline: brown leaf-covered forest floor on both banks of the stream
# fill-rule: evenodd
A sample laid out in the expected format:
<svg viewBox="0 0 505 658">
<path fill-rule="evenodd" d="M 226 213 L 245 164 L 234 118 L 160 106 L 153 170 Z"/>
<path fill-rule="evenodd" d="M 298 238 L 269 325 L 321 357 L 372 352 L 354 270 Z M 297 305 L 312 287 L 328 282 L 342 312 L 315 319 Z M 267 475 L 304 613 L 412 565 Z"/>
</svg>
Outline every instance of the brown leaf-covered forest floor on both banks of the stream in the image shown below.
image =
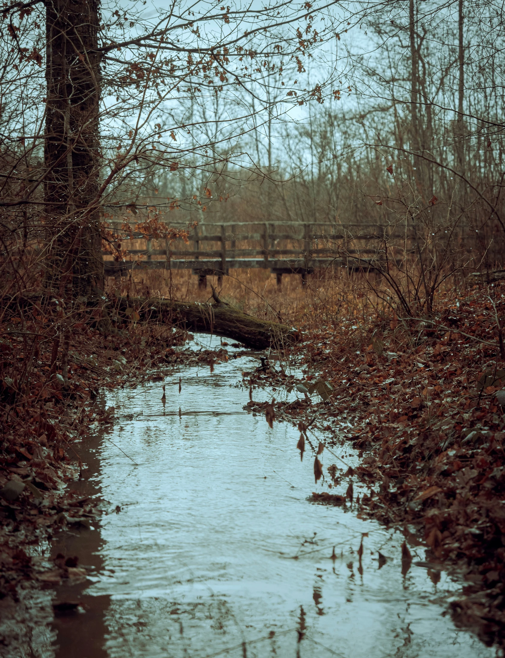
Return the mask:
<svg viewBox="0 0 505 658">
<path fill-rule="evenodd" d="M 475 286 L 460 298 L 441 295 L 429 321 L 326 310 L 314 322 L 310 315 L 310 322 L 300 320 L 303 342 L 279 354 L 278 363 L 271 358 L 274 367 L 267 362 L 243 374 L 252 391 L 296 387 L 299 399 L 259 403 L 251 393 L 247 407 L 269 422 L 284 417 L 299 426 L 299 449 L 314 451 L 316 482 L 324 478 L 332 490 L 314 493 L 314 500 L 351 505 L 360 518 L 402 528 L 405 569 L 409 544 L 427 549 L 434 572 L 463 571 L 468 586 L 451 603 L 454 619 L 475 626 L 485 642 L 502 644 L 505 285 Z M 72 443 L 114 422 L 114 409 L 95 404 L 99 388 L 161 381 L 156 372 L 166 365 L 212 367 L 228 354 L 226 342 L 219 351 L 181 352 L 174 346 L 187 334 L 159 325 L 139 323 L 105 336 L 84 323 L 72 333 L 68 387 L 50 376 L 49 351 L 37 353 L 30 377 L 20 382 L 15 373 L 26 345 L 14 320 L 0 343 L 0 597 L 15 599 L 20 587 L 84 576 L 73 556 L 59 555 L 47 569 L 33 547 L 60 528 L 97 519 L 93 501 L 72 491 L 82 476 Z M 297 380 L 284 371 L 293 358 L 303 368 Z M 360 465 L 340 459 L 324 473 L 318 455 L 345 442 Z"/>
</svg>

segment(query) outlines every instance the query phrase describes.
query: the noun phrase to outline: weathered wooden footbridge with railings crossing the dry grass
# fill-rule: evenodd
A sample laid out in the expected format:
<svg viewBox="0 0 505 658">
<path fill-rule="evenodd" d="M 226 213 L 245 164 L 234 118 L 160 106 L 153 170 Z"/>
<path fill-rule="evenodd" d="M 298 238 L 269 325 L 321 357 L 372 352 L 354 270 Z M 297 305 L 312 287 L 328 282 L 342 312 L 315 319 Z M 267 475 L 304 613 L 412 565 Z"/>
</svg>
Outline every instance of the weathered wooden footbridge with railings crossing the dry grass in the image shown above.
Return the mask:
<svg viewBox="0 0 505 658">
<path fill-rule="evenodd" d="M 189 245 L 180 239 L 161 248 L 161 241 L 156 245 L 133 234 L 127 247 L 131 260 L 117 262 L 107 254 L 104 265 L 108 276 L 137 268 L 191 269 L 202 287 L 209 275 L 222 278 L 231 269 L 264 268 L 277 275 L 280 286 L 283 274 L 300 274 L 305 283 L 316 269 L 373 270 L 381 245 L 393 238 L 404 240 L 405 232 L 377 224 L 203 224 L 191 231 Z M 124 249 L 126 240 L 121 243 Z"/>
</svg>

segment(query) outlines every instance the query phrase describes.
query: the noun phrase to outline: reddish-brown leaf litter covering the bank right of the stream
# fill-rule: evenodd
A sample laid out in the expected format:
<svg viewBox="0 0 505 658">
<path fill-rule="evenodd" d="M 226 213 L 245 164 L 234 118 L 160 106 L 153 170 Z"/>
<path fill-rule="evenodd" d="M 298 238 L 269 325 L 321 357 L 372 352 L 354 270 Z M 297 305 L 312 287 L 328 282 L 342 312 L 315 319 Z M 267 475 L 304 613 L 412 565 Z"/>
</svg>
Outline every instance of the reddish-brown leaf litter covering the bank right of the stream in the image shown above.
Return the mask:
<svg viewBox="0 0 505 658">
<path fill-rule="evenodd" d="M 505 322 L 504 284 L 474 286 L 461 297 L 441 293 L 427 320 L 393 315 L 359 326 L 352 317 L 326 320 L 314 328 L 310 318 L 305 332 L 300 322 L 306 340 L 290 354 L 304 365 L 299 380 L 244 373 L 251 387 L 303 396 L 279 399 L 275 412 L 299 429 L 316 418 L 308 430 L 318 446 L 316 483 L 322 441 L 356 451 L 360 465 L 348 468 L 345 495 L 314 492 L 309 500 L 352 503 L 357 478 L 358 518 L 418 528 L 428 563 L 440 565 L 431 569 L 434 582 L 442 568 L 467 574 L 462 597 L 450 603 L 456 622 L 475 626 L 486 642 L 505 644 L 505 363 L 496 340 L 497 322 Z M 251 399 L 245 408 L 264 404 Z M 296 446 L 301 457 L 306 432 Z M 327 487 L 343 492 L 341 470 L 327 471 Z M 406 539 L 412 540 L 408 532 Z M 387 557 L 378 555 L 380 567 Z M 403 573 L 411 563 L 404 542 Z"/>
</svg>

